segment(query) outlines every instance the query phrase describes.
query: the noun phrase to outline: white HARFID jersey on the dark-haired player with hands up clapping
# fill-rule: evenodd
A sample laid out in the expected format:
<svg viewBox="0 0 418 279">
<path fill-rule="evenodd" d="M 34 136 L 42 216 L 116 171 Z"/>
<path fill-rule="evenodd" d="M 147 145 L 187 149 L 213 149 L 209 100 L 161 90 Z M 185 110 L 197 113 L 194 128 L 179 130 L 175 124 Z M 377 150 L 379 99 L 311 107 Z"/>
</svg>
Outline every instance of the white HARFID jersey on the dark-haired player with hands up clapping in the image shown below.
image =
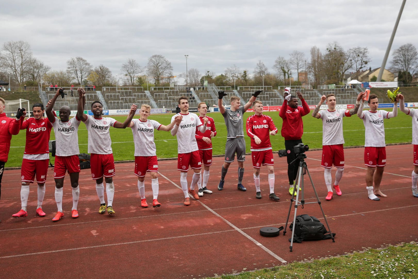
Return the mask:
<svg viewBox="0 0 418 279">
<path fill-rule="evenodd" d="M 178 113 L 176 115 L 180 115 L 181 113 Z M 174 121 L 174 118 L 176 117 L 174 115 L 171 118 L 171 122 Z M 183 116 L 183 119 L 181 120 L 180 125 L 178 126 L 177 131 L 177 148 L 178 148 L 178 154 L 182 153 L 190 153 L 196 150 L 199 150 L 197 147 L 196 142 L 196 127 L 199 127 L 202 124 L 202 122 L 199 119 L 199 116 L 197 116 L 194 113 L 188 113 L 188 114 L 181 114 Z"/>
</svg>

